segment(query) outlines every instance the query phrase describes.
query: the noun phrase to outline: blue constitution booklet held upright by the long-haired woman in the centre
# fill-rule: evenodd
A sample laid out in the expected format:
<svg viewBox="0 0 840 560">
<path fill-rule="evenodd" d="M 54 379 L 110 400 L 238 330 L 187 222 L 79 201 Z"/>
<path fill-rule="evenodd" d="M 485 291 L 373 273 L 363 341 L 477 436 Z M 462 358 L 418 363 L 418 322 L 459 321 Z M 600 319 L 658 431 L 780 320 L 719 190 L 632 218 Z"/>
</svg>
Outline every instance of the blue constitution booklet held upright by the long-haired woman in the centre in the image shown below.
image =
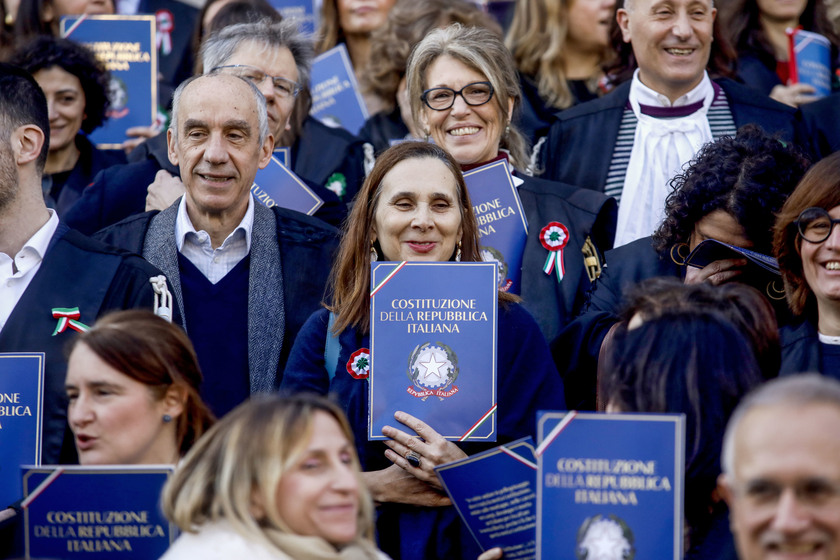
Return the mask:
<svg viewBox="0 0 840 560">
<path fill-rule="evenodd" d="M 497 300 L 495 263 L 371 263 L 369 439 L 401 410 L 496 441 Z"/>
</svg>

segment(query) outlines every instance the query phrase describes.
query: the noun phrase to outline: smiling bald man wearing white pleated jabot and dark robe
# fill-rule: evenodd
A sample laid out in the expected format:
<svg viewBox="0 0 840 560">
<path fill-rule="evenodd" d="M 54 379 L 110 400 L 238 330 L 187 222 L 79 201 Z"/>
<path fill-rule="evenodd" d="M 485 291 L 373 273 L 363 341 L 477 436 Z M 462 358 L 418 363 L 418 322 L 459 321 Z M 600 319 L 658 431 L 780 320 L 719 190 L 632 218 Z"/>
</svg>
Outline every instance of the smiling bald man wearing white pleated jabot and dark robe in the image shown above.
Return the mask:
<svg viewBox="0 0 840 560">
<path fill-rule="evenodd" d="M 712 80 L 712 0 L 625 0 L 616 13 L 632 47 L 632 80 L 558 113 L 544 176 L 619 199 L 615 245 L 653 233 L 669 181 L 700 147 L 755 123 L 790 140 L 794 112 L 728 79 Z"/>
</svg>

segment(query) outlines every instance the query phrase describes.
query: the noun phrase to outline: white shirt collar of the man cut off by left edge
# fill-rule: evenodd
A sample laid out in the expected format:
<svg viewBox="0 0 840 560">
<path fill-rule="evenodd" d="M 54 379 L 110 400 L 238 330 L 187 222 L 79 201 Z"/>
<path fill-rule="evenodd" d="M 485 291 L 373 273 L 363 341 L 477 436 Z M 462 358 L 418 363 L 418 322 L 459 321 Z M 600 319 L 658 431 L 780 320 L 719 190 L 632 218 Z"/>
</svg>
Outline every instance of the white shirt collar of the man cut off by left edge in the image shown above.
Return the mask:
<svg viewBox="0 0 840 560">
<path fill-rule="evenodd" d="M 0 332 L 41 268 L 41 262 L 58 227 L 58 214 L 52 209 L 47 211 L 50 219 L 23 244 L 14 259 L 6 253 L 0 253 Z"/>
</svg>

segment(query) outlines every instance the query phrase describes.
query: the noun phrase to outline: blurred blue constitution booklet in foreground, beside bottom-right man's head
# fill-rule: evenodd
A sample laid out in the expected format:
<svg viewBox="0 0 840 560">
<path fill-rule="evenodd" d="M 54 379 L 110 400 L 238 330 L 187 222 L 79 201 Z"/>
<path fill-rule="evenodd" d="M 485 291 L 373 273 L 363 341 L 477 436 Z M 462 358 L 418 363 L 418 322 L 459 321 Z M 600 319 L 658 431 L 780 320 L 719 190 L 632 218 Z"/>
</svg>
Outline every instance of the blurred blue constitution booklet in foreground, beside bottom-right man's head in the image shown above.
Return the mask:
<svg viewBox="0 0 840 560">
<path fill-rule="evenodd" d="M 543 412 L 538 558 L 682 558 L 681 414 Z"/>
</svg>

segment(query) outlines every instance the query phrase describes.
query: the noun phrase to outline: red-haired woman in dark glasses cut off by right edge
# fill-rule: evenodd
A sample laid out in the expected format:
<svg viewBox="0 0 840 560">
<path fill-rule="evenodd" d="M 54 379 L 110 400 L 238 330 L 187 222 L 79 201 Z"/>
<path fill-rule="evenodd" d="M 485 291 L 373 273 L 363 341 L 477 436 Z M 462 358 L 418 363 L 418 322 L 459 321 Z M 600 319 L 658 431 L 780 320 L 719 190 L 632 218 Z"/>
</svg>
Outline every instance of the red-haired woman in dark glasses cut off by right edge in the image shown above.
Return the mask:
<svg viewBox="0 0 840 560">
<path fill-rule="evenodd" d="M 791 311 L 781 374 L 840 377 L 840 153 L 814 165 L 776 221 L 774 249 Z"/>
</svg>

